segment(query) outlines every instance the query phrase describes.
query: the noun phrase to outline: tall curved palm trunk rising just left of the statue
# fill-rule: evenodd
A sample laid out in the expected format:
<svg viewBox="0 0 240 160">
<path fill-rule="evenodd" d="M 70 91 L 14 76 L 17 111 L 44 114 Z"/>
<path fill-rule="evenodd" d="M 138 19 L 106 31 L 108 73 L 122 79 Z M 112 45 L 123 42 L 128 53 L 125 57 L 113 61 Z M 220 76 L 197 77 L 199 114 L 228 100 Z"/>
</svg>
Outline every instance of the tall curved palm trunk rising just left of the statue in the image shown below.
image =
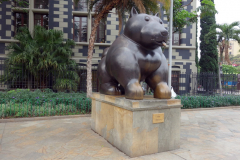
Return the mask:
<svg viewBox="0 0 240 160">
<path fill-rule="evenodd" d="M 94 25 L 92 28 L 92 32 L 89 39 L 89 46 L 88 46 L 88 59 L 87 59 L 87 97 L 91 97 L 92 95 L 92 54 L 93 54 L 93 48 L 94 48 L 94 41 L 95 41 L 95 35 L 97 27 L 101 21 L 102 18 L 106 14 L 111 11 L 116 4 L 119 4 L 121 0 L 113 0 L 108 5 L 106 5 L 101 12 L 97 14 L 97 17 L 94 20 Z"/>
</svg>

